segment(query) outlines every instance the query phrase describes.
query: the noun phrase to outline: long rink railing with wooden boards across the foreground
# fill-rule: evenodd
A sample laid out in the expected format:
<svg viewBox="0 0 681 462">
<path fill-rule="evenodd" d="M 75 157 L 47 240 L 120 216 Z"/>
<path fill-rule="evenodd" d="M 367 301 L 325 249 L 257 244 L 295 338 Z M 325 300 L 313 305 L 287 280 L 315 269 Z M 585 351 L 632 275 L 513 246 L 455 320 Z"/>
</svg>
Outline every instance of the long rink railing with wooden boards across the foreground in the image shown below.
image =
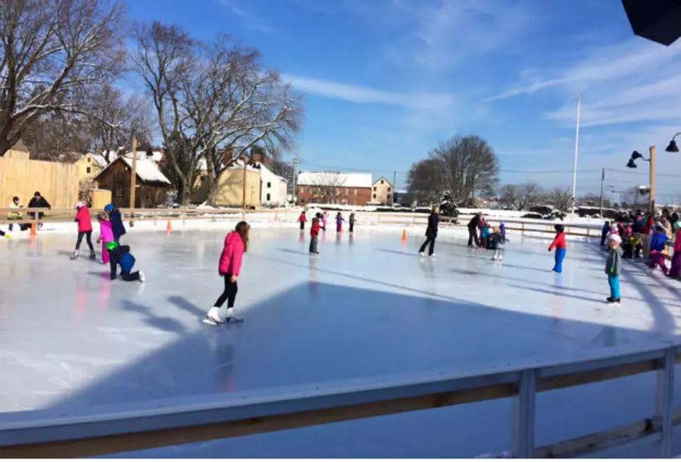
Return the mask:
<svg viewBox="0 0 681 462">
<path fill-rule="evenodd" d="M 115 404 L 76 411 L 29 411 L 0 423 L 0 457 L 86 457 L 183 445 L 318 424 L 510 398 L 514 457 L 569 457 L 632 443 L 659 443 L 671 456 L 675 365 L 681 344 L 660 340 L 580 353 L 561 363 L 502 367 L 477 374 L 436 372 L 372 381 L 299 385 L 268 392 Z M 623 427 L 536 447 L 536 395 L 656 373 L 653 414 Z"/>
</svg>

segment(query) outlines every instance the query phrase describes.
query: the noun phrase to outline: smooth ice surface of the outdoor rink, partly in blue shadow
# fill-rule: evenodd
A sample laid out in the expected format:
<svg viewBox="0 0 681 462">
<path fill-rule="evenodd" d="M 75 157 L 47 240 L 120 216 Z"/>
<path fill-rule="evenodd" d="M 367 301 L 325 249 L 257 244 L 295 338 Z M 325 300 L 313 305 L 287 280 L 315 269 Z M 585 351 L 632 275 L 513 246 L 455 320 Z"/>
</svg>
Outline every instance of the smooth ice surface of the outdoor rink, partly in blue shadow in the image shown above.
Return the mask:
<svg viewBox="0 0 681 462">
<path fill-rule="evenodd" d="M 625 262 L 623 305 L 605 304 L 605 254 L 593 242 L 569 242 L 556 276 L 548 239 L 511 235 L 500 264 L 443 236 L 431 260 L 418 256 L 421 230 L 403 245 L 401 228 L 361 227 L 320 236 L 318 258 L 307 253 L 307 230 L 252 229 L 237 297 L 245 322 L 206 326 L 222 292 L 225 231 L 132 230 L 123 240 L 145 285 L 69 260 L 75 235 L 0 239 L 0 421 L 15 411 L 523 365 L 680 330 L 681 285 L 641 264 Z M 647 417 L 653 385 L 642 375 L 539 395 L 537 445 Z M 489 401 L 135 455 L 476 456 L 508 449 L 509 408 Z"/>
</svg>

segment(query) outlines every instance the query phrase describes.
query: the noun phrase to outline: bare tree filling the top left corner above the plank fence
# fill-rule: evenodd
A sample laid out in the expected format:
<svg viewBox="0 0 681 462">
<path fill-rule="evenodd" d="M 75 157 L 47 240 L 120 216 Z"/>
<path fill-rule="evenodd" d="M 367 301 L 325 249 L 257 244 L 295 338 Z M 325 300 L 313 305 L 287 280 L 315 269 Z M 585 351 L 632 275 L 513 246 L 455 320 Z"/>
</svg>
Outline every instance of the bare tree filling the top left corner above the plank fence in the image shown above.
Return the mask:
<svg viewBox="0 0 681 462">
<path fill-rule="evenodd" d="M 88 86 L 120 65 L 121 23 L 115 1 L 2 1 L 0 156 L 42 116 L 88 112 Z"/>
</svg>

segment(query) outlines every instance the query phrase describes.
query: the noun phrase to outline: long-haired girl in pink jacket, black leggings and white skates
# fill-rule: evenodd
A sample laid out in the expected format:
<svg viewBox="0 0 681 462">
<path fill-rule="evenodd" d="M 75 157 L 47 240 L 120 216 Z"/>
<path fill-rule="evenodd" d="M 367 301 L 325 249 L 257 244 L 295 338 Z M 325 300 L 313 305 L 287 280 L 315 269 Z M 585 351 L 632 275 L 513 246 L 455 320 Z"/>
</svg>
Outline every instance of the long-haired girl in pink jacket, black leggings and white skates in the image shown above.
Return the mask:
<svg viewBox="0 0 681 462">
<path fill-rule="evenodd" d="M 220 255 L 220 263 L 218 264 L 218 273 L 224 278 L 224 290 L 222 294 L 215 301 L 213 307 L 208 310 L 204 323 L 211 324 L 211 326 L 219 326 L 225 322 L 243 321 L 242 318 L 236 316 L 234 312 L 234 301 L 236 300 L 236 293 L 238 286 L 236 280 L 241 271 L 241 261 L 243 254 L 248 250 L 248 232 L 251 227 L 245 221 L 240 221 L 236 225 L 236 230 L 227 234 L 224 238 L 224 248 Z M 220 308 L 227 301 L 227 313 L 225 317 L 220 317 Z"/>
</svg>

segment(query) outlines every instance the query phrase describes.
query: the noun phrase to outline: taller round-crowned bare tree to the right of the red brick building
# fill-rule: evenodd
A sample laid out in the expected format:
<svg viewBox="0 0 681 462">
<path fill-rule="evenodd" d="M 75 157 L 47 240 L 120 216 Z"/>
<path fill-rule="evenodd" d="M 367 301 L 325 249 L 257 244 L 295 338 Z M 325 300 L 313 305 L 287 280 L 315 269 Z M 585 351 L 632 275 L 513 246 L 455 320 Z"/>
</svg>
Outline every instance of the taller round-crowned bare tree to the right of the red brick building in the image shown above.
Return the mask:
<svg viewBox="0 0 681 462">
<path fill-rule="evenodd" d="M 476 194 L 493 195 L 498 183 L 499 160 L 479 136 L 454 136 L 430 153 L 445 174 L 445 186 L 457 202 L 472 202 Z"/>
</svg>

